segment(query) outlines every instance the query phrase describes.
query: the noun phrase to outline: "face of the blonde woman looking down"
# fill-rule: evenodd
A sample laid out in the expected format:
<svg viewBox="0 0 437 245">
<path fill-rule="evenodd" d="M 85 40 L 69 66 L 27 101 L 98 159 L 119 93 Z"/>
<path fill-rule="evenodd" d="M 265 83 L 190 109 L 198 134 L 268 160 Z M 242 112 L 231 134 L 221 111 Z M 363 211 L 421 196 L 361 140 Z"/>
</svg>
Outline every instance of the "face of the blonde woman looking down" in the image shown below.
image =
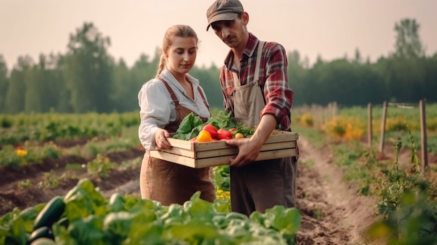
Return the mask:
<svg viewBox="0 0 437 245">
<path fill-rule="evenodd" d="M 185 74 L 193 68 L 197 56 L 195 38 L 173 37 L 173 43 L 168 47 L 167 68 L 173 74 Z"/>
</svg>

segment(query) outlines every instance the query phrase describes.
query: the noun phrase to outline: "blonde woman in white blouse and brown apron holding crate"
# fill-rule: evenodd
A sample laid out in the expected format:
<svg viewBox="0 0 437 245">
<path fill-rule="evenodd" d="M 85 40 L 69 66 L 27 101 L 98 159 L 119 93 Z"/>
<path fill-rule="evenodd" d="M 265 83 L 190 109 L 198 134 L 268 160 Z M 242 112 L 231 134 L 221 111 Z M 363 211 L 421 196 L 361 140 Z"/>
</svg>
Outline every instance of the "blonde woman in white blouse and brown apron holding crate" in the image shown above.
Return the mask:
<svg viewBox="0 0 437 245">
<path fill-rule="evenodd" d="M 211 116 L 199 81 L 188 74 L 198 50 L 198 36 L 187 26 L 170 27 L 163 38 L 163 54 L 156 77 L 139 94 L 141 123 L 138 135 L 146 149 L 140 173 L 141 196 L 162 205 L 183 205 L 200 191 L 200 198 L 213 202 L 210 168 L 190 168 L 150 157 L 149 151 L 168 149 L 166 138 L 175 133 L 182 119 L 194 112 L 205 121 Z"/>
</svg>

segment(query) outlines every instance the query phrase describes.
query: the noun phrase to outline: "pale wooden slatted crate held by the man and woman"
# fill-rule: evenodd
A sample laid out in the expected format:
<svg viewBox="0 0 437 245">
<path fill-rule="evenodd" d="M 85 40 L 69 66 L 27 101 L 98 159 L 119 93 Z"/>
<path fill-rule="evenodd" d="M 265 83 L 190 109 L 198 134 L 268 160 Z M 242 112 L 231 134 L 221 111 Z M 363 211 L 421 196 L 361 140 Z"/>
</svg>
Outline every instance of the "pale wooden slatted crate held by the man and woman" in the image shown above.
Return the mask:
<svg viewBox="0 0 437 245">
<path fill-rule="evenodd" d="M 297 133 L 274 131 L 262 145 L 256 161 L 296 156 Z M 229 164 L 235 158 L 238 147 L 229 146 L 224 141 L 191 142 L 168 138 L 171 149 L 150 151 L 150 156 L 179 163 L 191 168 L 205 168 Z"/>
</svg>

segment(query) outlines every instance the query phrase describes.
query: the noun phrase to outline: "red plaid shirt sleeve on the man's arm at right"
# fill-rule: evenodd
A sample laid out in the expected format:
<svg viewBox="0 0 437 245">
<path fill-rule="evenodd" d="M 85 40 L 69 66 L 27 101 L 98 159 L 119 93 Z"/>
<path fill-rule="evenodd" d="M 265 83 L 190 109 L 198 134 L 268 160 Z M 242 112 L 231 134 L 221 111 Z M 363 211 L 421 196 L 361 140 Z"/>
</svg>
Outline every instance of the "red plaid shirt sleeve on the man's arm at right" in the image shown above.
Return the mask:
<svg viewBox="0 0 437 245">
<path fill-rule="evenodd" d="M 264 84 L 266 105 L 260 112 L 260 116 L 273 114 L 280 124 L 279 128 L 288 128 L 290 126 L 288 115 L 292 105 L 293 91 L 288 87 L 286 50 L 282 45 L 273 43 L 266 50 L 265 57 L 267 57 L 265 67 L 267 80 Z"/>
</svg>

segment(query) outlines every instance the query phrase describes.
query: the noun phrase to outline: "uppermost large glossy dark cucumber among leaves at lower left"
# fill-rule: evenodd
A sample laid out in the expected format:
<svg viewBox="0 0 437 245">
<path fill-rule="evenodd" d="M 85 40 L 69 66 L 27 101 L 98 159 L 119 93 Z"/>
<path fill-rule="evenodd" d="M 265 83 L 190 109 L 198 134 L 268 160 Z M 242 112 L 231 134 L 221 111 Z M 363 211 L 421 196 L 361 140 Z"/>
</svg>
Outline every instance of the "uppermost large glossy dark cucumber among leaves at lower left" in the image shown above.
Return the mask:
<svg viewBox="0 0 437 245">
<path fill-rule="evenodd" d="M 34 230 L 47 226 L 52 227 L 54 222 L 59 221 L 65 211 L 65 202 L 57 195 L 52 200 L 47 202 L 47 205 L 40 211 L 34 221 Z"/>
</svg>

